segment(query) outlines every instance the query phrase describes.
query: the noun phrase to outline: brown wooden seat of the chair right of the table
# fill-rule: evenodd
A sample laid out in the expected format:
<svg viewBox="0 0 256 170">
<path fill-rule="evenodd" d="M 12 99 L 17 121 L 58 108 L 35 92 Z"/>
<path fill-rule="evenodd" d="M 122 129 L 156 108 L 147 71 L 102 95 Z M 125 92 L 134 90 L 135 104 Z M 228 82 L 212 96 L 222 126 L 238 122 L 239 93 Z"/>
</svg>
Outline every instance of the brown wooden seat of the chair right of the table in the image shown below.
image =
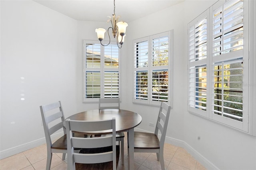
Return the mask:
<svg viewBox="0 0 256 170">
<path fill-rule="evenodd" d="M 134 149 L 159 149 L 159 139 L 154 133 L 134 132 Z"/>
</svg>

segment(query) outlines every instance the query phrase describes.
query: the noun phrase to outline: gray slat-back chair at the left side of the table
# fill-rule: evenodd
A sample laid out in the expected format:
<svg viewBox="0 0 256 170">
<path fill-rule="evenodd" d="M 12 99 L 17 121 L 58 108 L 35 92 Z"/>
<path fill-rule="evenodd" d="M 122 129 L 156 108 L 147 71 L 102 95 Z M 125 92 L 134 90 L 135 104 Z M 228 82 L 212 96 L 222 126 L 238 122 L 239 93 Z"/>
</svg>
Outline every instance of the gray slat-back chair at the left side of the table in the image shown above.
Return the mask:
<svg viewBox="0 0 256 170">
<path fill-rule="evenodd" d="M 65 159 L 67 153 L 67 137 L 66 129 L 63 126 L 63 121 L 65 120 L 62 106 L 60 101 L 51 103 L 48 105 L 40 106 L 42 122 L 44 126 L 44 134 L 46 138 L 47 146 L 47 160 L 46 160 L 46 170 L 50 170 L 52 162 L 52 153 L 63 153 L 62 160 Z M 51 135 L 57 130 L 62 129 L 64 135 L 58 138 L 55 142 L 52 142 Z M 84 134 L 74 134 L 75 136 L 82 136 Z M 75 148 L 79 150 L 79 148 Z"/>
</svg>

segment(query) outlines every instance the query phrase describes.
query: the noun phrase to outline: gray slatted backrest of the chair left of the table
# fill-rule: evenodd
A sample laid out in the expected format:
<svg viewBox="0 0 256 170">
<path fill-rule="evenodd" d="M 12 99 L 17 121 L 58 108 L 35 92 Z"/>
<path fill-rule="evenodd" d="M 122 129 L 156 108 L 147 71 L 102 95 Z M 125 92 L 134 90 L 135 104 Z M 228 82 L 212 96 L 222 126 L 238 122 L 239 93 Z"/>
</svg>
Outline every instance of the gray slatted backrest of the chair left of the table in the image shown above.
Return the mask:
<svg viewBox="0 0 256 170">
<path fill-rule="evenodd" d="M 65 120 L 64 114 L 60 101 L 48 105 L 42 105 L 40 106 L 40 111 L 47 148 L 50 148 L 52 146 L 51 134 L 60 128 L 63 128 L 64 134 L 66 134 L 66 130 L 63 126 L 63 121 Z"/>
</svg>

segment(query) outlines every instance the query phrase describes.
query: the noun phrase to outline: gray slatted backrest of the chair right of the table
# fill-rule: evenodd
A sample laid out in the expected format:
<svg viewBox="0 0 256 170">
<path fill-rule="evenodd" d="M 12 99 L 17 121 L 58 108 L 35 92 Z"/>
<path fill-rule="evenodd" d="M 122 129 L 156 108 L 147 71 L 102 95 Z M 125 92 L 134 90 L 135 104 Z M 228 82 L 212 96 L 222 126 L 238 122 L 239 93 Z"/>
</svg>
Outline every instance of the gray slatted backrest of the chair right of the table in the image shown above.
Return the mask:
<svg viewBox="0 0 256 170">
<path fill-rule="evenodd" d="M 169 116 L 170 116 L 171 107 L 164 102 L 161 102 L 158 119 L 156 122 L 155 134 L 158 135 L 158 132 L 161 132 L 160 138 L 160 147 L 164 146 L 164 140 L 166 136 L 166 130 L 168 126 Z"/>
</svg>

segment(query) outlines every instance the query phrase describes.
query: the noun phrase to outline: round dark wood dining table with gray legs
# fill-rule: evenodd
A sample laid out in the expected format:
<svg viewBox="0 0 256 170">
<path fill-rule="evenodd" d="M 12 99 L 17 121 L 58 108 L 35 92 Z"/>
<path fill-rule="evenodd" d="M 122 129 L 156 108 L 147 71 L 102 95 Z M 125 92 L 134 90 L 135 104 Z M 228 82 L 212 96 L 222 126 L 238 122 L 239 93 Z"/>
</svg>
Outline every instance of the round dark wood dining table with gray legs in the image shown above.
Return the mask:
<svg viewBox="0 0 256 170">
<path fill-rule="evenodd" d="M 134 128 L 140 125 L 142 117 L 133 111 L 123 109 L 95 109 L 76 113 L 67 119 L 77 121 L 100 121 L 106 119 L 116 119 L 116 132 L 129 133 L 129 154 L 128 154 L 128 170 L 134 170 Z M 109 133 L 108 131 L 100 132 Z"/>
</svg>

